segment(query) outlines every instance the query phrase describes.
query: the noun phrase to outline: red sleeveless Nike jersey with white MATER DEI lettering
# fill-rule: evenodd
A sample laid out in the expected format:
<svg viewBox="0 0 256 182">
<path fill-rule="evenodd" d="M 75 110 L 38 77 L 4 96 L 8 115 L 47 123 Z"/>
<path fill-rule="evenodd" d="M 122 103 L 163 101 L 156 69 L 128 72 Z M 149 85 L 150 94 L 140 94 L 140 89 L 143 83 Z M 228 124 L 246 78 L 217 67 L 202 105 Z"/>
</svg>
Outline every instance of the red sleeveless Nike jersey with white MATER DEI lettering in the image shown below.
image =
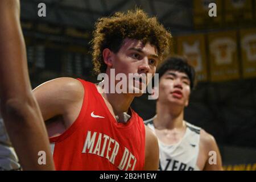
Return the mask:
<svg viewBox="0 0 256 182">
<path fill-rule="evenodd" d="M 50 138 L 56 170 L 143 170 L 143 119 L 131 109 L 129 121 L 117 123 L 96 85 L 78 80 L 85 89 L 79 117 Z"/>
</svg>

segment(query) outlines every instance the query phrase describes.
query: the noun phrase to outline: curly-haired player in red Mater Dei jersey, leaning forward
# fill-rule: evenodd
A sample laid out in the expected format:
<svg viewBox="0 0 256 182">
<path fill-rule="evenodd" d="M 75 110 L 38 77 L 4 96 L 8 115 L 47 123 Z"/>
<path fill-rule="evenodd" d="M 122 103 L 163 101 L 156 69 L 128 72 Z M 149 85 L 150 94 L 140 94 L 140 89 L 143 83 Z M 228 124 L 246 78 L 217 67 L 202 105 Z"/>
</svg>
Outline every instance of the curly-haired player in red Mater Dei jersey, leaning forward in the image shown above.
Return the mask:
<svg viewBox="0 0 256 182">
<path fill-rule="evenodd" d="M 170 32 L 142 10 L 100 18 L 95 26 L 94 71 L 105 73 L 110 80 L 112 69 L 114 76 L 154 75 L 170 46 Z M 56 169 L 158 169 L 158 140 L 130 107 L 148 81 L 137 81 L 139 86 L 129 88 L 138 93 L 109 93 L 100 84 L 70 77 L 38 86 L 34 94 L 52 136 Z M 109 84 L 107 79 L 102 82 L 104 86 Z M 114 86 L 117 84 L 115 80 Z"/>
</svg>

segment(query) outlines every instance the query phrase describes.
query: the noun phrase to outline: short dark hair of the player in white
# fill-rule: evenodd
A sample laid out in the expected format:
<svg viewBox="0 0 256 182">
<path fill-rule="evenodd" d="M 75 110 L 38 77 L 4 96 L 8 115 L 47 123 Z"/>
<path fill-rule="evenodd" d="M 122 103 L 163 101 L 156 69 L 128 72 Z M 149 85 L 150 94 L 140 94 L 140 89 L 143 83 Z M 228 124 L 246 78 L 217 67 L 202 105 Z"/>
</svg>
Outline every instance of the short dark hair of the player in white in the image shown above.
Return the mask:
<svg viewBox="0 0 256 182">
<path fill-rule="evenodd" d="M 159 74 L 159 80 L 167 71 L 179 71 L 185 73 L 189 78 L 191 90 L 194 89 L 196 72 L 195 69 L 188 64 L 188 60 L 185 57 L 172 56 L 164 60 L 163 64 L 161 64 L 156 71 L 156 73 Z"/>
</svg>

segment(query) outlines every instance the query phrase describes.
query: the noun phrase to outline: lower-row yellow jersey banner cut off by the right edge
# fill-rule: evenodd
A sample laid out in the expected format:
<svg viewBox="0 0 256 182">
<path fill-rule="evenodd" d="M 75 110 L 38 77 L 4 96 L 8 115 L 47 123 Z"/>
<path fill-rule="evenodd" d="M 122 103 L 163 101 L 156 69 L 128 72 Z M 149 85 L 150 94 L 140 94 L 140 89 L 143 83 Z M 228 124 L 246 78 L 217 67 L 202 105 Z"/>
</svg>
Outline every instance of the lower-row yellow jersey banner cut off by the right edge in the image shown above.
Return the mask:
<svg viewBox="0 0 256 182">
<path fill-rule="evenodd" d="M 256 77 L 256 28 L 241 30 L 243 78 Z"/>
</svg>

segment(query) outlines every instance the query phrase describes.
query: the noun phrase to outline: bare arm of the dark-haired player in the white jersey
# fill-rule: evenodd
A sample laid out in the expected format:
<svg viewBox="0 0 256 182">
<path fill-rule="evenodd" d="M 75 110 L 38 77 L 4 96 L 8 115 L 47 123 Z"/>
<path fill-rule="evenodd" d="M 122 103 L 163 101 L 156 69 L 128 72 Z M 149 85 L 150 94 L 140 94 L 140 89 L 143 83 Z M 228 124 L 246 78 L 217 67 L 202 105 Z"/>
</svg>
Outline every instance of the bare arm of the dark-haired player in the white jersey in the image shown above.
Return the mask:
<svg viewBox="0 0 256 182">
<path fill-rule="evenodd" d="M 205 151 L 207 151 L 207 160 L 205 162 L 204 171 L 222 171 L 222 161 L 220 150 L 218 149 L 214 137 L 205 131 L 203 132 L 203 142 Z M 215 163 L 216 162 L 216 163 Z"/>
</svg>

